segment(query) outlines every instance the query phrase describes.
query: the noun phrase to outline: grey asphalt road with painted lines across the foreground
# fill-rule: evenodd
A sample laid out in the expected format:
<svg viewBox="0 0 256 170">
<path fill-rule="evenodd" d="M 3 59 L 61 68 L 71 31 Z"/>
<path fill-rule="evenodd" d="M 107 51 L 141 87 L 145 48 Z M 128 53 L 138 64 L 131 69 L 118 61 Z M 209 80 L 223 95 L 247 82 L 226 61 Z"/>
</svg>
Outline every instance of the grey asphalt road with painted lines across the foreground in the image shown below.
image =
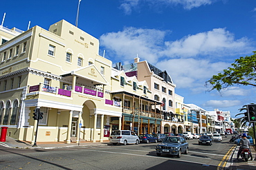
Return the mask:
<svg viewBox="0 0 256 170">
<path fill-rule="evenodd" d="M 156 156 L 156 143 L 60 149 L 12 149 L 0 146 L 0 169 L 217 169 L 234 144 L 223 138 L 212 146 L 187 140 L 181 158 Z"/>
</svg>

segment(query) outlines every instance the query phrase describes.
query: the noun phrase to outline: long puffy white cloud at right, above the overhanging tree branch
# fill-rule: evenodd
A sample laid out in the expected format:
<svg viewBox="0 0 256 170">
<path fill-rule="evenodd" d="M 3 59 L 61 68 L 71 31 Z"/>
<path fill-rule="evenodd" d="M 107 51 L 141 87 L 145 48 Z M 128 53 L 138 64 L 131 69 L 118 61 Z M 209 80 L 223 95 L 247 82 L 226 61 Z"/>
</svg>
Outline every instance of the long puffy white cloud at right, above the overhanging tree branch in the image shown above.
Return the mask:
<svg viewBox="0 0 256 170">
<path fill-rule="evenodd" d="M 225 28 L 216 28 L 208 32 L 183 37 L 176 41 L 165 42 L 165 56 L 223 56 L 224 54 L 243 54 L 251 52 L 250 41 L 244 37 L 235 39 L 234 34 Z"/>
</svg>

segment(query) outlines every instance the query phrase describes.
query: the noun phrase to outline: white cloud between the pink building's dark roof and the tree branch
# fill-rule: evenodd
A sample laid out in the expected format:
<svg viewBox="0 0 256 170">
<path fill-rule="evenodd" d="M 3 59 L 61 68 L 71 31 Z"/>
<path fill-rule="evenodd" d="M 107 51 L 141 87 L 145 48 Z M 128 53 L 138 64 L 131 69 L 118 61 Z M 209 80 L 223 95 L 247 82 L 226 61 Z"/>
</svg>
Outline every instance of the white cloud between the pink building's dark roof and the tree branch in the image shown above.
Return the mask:
<svg viewBox="0 0 256 170">
<path fill-rule="evenodd" d="M 161 70 L 167 70 L 176 88 L 191 88 L 194 93 L 202 92 L 202 89 L 205 91 L 205 81 L 229 65 L 229 63 L 211 63 L 209 60 L 191 58 L 158 61 L 156 64 Z"/>
</svg>

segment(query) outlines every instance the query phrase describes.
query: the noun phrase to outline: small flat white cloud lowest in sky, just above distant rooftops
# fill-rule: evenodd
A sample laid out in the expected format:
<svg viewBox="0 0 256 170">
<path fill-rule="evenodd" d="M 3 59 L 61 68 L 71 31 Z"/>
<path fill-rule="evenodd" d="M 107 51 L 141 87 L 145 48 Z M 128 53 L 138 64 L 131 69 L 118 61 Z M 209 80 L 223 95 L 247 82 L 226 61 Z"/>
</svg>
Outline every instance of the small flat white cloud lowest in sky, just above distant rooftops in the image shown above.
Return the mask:
<svg viewBox="0 0 256 170">
<path fill-rule="evenodd" d="M 204 107 L 226 108 L 241 105 L 240 100 L 208 100 L 203 104 Z"/>
</svg>

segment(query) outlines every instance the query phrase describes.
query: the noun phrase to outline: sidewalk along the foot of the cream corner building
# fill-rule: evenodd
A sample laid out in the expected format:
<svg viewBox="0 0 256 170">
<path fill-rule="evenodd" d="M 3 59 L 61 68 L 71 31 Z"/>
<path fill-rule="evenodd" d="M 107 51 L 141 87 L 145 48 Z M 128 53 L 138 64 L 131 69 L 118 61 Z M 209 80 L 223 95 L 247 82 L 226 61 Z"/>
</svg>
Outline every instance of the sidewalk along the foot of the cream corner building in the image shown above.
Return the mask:
<svg viewBox="0 0 256 170">
<path fill-rule="evenodd" d="M 33 147 L 30 142 L 15 140 L 6 136 L 6 142 L 0 142 L 0 145 L 4 147 L 19 148 L 19 149 L 54 149 L 62 147 L 97 147 L 106 146 L 109 144 L 109 140 L 104 142 L 86 142 L 81 141 L 79 144 L 76 142 L 71 142 L 67 144 L 66 142 L 37 142 L 37 147 Z"/>
</svg>

